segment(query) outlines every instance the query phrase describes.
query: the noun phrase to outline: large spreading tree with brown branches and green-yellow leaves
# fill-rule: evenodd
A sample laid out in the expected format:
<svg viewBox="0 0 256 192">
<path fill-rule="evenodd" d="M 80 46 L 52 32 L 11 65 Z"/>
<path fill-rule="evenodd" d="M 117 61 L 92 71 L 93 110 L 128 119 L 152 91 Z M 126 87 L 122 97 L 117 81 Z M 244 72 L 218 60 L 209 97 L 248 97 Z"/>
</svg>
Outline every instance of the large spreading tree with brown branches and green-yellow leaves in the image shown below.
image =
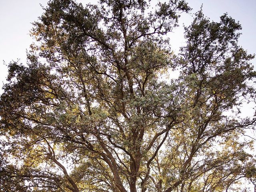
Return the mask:
<svg viewBox="0 0 256 192">
<path fill-rule="evenodd" d="M 228 192 L 256 185 L 253 55 L 227 14 L 197 12 L 176 56 L 183 0 L 51 0 L 0 100 L 4 192 Z M 170 77 L 180 70 L 178 79 Z M 242 139 L 241 139 L 242 138 Z M 244 189 L 246 191 L 246 189 Z"/>
</svg>

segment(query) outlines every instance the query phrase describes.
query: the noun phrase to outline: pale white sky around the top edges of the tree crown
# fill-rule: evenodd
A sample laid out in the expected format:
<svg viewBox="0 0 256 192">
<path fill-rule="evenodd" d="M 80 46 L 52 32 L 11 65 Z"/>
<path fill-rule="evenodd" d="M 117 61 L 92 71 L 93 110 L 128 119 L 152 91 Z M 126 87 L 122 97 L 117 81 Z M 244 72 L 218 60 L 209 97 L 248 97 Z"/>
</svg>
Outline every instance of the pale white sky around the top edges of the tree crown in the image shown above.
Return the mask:
<svg viewBox="0 0 256 192">
<path fill-rule="evenodd" d="M 152 0 L 153 2 L 156 0 Z M 0 0 L 0 88 L 7 76 L 7 67 L 12 60 L 20 59 L 26 63 L 26 49 L 32 43 L 29 30 L 31 22 L 38 19 L 43 12 L 42 6 L 48 0 Z M 93 0 L 77 0 L 77 2 L 94 2 Z M 96 1 L 95 1 L 96 2 Z M 198 11 L 203 4 L 203 12 L 210 20 L 218 21 L 227 12 L 242 24 L 240 45 L 249 53 L 256 53 L 256 0 L 187 0 L 192 13 Z M 182 23 L 186 26 L 192 21 L 192 16 L 183 15 L 180 27 L 170 34 L 172 47 L 178 50 L 184 44 Z M 256 64 L 255 59 L 252 61 Z M 2 92 L 2 91 L 0 91 Z"/>
</svg>

